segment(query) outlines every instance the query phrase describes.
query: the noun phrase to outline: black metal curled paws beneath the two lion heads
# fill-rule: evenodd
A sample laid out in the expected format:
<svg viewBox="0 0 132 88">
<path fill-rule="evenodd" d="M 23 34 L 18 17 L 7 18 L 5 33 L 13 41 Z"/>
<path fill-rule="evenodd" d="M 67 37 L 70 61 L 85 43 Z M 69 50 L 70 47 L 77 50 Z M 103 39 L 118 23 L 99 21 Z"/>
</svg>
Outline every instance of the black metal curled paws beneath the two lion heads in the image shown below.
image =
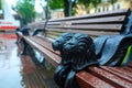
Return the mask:
<svg viewBox="0 0 132 88">
<path fill-rule="evenodd" d="M 68 65 L 58 65 L 54 74 L 54 80 L 59 88 L 80 88 L 75 79 L 76 72 Z"/>
</svg>

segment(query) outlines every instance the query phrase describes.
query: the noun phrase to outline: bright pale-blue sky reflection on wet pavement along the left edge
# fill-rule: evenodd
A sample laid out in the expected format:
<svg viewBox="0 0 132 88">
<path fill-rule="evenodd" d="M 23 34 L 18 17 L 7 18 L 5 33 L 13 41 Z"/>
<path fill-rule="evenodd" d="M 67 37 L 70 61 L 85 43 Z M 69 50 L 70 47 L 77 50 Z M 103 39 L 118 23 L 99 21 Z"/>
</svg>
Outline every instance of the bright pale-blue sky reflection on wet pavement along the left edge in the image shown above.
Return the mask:
<svg viewBox="0 0 132 88">
<path fill-rule="evenodd" d="M 0 88 L 24 88 L 14 38 L 0 37 Z"/>
</svg>

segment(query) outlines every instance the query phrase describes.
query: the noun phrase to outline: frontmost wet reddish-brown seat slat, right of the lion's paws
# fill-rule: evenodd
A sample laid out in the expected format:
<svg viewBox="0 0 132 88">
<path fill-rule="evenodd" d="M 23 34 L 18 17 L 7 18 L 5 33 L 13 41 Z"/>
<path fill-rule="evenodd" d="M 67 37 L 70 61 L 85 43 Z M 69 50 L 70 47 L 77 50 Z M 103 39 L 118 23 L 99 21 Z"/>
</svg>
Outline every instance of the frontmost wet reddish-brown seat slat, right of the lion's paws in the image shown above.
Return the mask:
<svg viewBox="0 0 132 88">
<path fill-rule="evenodd" d="M 82 85 L 82 88 L 114 88 L 112 85 L 84 70 L 76 74 L 76 78 L 79 85 Z"/>
</svg>

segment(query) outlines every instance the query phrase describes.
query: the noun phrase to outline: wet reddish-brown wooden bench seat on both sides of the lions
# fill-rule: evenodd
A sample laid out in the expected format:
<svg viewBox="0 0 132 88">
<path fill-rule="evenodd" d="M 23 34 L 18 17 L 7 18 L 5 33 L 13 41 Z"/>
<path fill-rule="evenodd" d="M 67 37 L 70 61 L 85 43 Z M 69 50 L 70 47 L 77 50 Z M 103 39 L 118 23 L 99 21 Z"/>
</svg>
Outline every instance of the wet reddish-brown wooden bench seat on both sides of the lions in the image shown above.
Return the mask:
<svg viewBox="0 0 132 88">
<path fill-rule="evenodd" d="M 24 36 L 25 41 L 37 50 L 53 66 L 61 62 L 59 53 L 52 50 L 52 42 L 38 36 Z M 34 41 L 35 40 L 35 41 Z M 44 41 L 45 40 L 45 41 Z M 132 87 L 132 64 L 127 67 L 89 67 L 76 74 L 76 79 L 81 88 L 131 88 Z"/>
</svg>

